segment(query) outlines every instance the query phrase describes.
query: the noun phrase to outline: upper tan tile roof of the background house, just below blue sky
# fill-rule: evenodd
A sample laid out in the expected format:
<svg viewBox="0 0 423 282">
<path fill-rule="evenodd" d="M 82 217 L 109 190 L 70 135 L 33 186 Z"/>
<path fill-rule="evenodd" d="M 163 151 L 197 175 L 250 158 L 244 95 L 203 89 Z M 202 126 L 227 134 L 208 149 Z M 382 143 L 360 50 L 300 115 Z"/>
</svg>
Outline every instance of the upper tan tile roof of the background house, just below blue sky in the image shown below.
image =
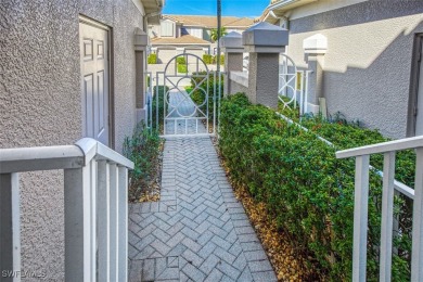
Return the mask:
<svg viewBox="0 0 423 282">
<path fill-rule="evenodd" d="M 206 28 L 216 28 L 217 18 L 216 16 L 204 16 L 204 15 L 168 15 L 164 14 L 163 17 L 170 18 L 176 22 L 182 23 L 184 26 L 202 26 Z M 255 24 L 254 18 L 249 17 L 236 17 L 236 16 L 222 16 L 221 25 L 225 27 L 241 27 L 248 28 Z"/>
</svg>

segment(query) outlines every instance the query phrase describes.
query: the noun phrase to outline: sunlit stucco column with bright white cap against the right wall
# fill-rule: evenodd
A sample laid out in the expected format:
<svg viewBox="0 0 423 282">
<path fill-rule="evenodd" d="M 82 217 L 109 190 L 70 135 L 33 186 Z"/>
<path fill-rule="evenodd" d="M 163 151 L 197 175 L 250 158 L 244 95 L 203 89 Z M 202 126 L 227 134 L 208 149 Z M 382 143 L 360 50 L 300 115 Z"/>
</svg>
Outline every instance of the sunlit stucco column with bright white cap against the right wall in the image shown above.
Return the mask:
<svg viewBox="0 0 423 282">
<path fill-rule="evenodd" d="M 303 41 L 304 54 L 308 64 L 308 112 L 319 113 L 319 99 L 324 97 L 323 93 L 323 66 L 324 54 L 328 51 L 328 39 L 323 35 L 313 35 Z M 324 115 L 325 113 L 323 113 Z"/>
</svg>

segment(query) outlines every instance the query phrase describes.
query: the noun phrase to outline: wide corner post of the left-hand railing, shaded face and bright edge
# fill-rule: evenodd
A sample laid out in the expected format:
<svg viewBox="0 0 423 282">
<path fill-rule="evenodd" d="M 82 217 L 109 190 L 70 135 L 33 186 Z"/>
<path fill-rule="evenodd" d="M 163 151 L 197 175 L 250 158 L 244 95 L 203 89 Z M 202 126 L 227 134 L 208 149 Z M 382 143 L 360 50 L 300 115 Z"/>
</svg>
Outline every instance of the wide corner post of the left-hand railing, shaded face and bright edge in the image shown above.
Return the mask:
<svg viewBox="0 0 423 282">
<path fill-rule="evenodd" d="M 91 163 L 91 162 L 90 162 Z M 65 281 L 95 281 L 92 264 L 92 166 L 64 170 Z M 95 261 L 94 261 L 95 262 Z"/>
</svg>

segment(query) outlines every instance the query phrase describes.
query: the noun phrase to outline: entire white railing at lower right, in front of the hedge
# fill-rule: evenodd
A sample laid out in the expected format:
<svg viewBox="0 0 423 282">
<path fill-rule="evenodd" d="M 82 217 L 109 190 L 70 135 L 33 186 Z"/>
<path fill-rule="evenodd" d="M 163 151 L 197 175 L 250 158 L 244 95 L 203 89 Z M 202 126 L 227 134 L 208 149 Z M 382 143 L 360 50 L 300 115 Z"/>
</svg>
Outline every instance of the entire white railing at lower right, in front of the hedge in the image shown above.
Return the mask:
<svg viewBox="0 0 423 282">
<path fill-rule="evenodd" d="M 396 189 L 395 155 L 415 149 L 414 190 Z M 413 200 L 411 281 L 423 281 L 423 137 L 407 138 L 336 152 L 337 158 L 356 157 L 352 281 L 366 281 L 370 155 L 384 154 L 380 281 L 390 281 L 394 190 Z"/>
</svg>

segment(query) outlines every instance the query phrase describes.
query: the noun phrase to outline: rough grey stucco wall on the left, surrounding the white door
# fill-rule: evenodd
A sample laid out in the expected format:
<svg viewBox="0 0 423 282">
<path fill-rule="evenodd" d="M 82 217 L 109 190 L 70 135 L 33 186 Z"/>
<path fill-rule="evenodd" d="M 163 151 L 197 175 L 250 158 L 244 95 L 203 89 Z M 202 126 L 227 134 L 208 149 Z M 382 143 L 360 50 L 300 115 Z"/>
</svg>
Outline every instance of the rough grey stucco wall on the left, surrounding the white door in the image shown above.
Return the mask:
<svg viewBox="0 0 423 282">
<path fill-rule="evenodd" d="M 0 148 L 73 144 L 82 137 L 79 15 L 112 27 L 115 146 L 136 125 L 131 0 L 5 0 L 0 4 Z M 23 174 L 23 270 L 62 280 L 63 172 Z"/>
</svg>

